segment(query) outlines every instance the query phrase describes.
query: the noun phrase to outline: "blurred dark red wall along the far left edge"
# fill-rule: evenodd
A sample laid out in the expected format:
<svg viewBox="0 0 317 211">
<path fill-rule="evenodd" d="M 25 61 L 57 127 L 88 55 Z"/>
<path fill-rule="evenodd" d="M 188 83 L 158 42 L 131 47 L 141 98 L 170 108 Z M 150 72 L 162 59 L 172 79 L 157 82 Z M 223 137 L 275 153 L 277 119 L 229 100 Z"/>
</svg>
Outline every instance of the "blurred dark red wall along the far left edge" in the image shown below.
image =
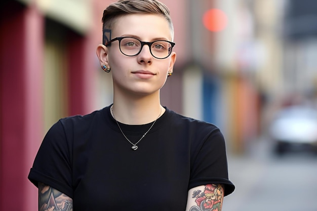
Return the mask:
<svg viewBox="0 0 317 211">
<path fill-rule="evenodd" d="M 43 17 L 10 2 L 1 11 L 0 210 L 36 210 L 27 181 L 42 139 Z"/>
</svg>

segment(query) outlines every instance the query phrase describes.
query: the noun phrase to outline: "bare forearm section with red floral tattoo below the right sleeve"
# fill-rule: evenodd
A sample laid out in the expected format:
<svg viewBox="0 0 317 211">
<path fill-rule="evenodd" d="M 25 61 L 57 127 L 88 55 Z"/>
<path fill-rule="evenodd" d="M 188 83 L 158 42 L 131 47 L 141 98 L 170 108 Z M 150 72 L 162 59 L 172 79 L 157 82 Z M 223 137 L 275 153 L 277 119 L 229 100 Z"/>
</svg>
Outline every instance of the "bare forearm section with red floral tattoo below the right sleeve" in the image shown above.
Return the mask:
<svg viewBox="0 0 317 211">
<path fill-rule="evenodd" d="M 186 211 L 221 211 L 224 188 L 221 184 L 209 184 L 188 191 Z"/>
</svg>

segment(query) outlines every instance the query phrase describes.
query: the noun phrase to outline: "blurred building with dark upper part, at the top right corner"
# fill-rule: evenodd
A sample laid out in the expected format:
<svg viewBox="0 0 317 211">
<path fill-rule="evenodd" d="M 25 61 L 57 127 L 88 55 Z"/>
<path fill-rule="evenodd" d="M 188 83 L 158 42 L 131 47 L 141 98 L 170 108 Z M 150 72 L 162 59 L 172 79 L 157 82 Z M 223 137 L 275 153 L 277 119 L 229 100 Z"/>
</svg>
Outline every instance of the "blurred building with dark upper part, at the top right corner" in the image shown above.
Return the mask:
<svg viewBox="0 0 317 211">
<path fill-rule="evenodd" d="M 288 1 L 283 38 L 285 89 L 304 97 L 317 97 L 317 2 Z M 317 106 L 317 104 L 316 104 Z"/>
</svg>

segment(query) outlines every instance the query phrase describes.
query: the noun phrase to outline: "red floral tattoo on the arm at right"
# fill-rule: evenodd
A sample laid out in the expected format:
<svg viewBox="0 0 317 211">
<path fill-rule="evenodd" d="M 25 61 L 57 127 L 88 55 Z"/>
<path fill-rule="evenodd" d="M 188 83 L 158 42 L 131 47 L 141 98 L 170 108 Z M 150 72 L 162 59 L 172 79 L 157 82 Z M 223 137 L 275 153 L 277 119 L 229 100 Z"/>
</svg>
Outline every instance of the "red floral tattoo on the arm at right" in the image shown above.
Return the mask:
<svg viewBox="0 0 317 211">
<path fill-rule="evenodd" d="M 196 198 L 197 206 L 190 207 L 190 211 L 221 211 L 223 187 L 220 184 L 206 185 L 204 192 L 195 190 L 192 198 Z"/>
</svg>

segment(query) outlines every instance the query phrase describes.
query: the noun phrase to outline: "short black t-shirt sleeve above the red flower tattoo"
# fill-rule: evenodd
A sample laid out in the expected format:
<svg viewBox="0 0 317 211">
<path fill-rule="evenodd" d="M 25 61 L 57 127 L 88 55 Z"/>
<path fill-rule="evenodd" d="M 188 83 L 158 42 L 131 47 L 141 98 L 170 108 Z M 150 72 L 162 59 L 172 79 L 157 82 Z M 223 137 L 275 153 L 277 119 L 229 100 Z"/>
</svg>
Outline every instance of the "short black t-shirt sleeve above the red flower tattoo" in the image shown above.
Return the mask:
<svg viewBox="0 0 317 211">
<path fill-rule="evenodd" d="M 191 173 L 188 189 L 207 185 L 223 184 L 224 195 L 234 190 L 234 185 L 228 180 L 228 165 L 225 140 L 218 128 L 201 139 L 192 150 Z"/>
</svg>

